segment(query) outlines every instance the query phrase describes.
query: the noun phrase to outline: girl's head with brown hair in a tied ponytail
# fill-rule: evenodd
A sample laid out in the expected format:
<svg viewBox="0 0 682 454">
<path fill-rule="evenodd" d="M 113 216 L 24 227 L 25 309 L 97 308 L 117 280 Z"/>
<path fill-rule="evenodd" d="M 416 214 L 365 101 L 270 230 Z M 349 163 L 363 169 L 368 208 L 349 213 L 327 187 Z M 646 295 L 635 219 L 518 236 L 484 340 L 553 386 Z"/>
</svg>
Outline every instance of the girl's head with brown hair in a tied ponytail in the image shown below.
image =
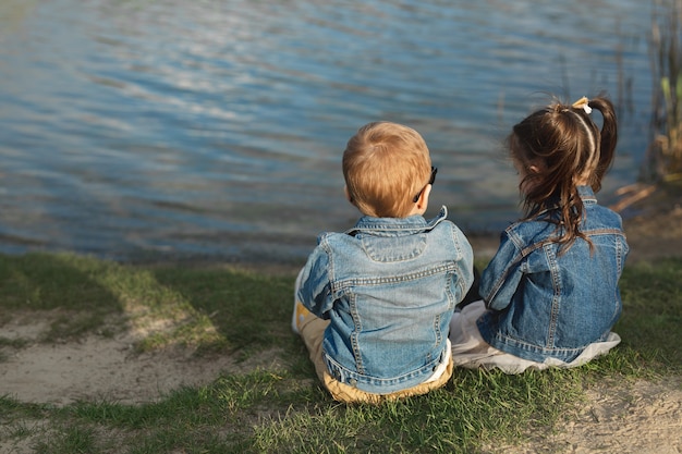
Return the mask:
<svg viewBox="0 0 682 454">
<path fill-rule="evenodd" d="M 601 130 L 590 116 L 593 109 L 602 116 Z M 601 188 L 618 140 L 616 111 L 605 97 L 582 98 L 569 106 L 553 102 L 513 127 L 508 146 L 521 175 L 525 216 L 560 209 L 563 234 L 559 242 L 570 246 L 583 218 L 577 186 Z"/>
</svg>

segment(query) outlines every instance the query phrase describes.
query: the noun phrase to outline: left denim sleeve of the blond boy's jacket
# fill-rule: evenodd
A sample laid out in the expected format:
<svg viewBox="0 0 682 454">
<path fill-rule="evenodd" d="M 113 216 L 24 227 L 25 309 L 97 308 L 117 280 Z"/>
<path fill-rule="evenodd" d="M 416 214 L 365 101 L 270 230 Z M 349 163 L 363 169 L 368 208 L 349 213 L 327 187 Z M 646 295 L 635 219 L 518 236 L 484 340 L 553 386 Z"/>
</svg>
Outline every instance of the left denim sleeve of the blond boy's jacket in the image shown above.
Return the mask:
<svg viewBox="0 0 682 454">
<path fill-rule="evenodd" d="M 301 270 L 301 286 L 296 294 L 310 312 L 324 319 L 329 318 L 328 312 L 333 306 L 329 265 L 327 250 L 318 245 Z"/>
</svg>

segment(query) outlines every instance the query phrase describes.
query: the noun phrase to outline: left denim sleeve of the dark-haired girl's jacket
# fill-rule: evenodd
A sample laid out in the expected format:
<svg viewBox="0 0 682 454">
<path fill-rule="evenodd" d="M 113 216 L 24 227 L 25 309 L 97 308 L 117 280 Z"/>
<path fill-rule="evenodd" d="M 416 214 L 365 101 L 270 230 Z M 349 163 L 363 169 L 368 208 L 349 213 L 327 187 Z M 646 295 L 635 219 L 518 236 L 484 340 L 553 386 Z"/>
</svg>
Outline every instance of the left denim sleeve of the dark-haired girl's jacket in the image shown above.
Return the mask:
<svg viewBox="0 0 682 454">
<path fill-rule="evenodd" d="M 521 251 L 507 232 L 502 233 L 500 247 L 480 277 L 480 296 L 486 307 L 502 310 L 511 302 L 523 273 L 520 269 Z"/>
</svg>

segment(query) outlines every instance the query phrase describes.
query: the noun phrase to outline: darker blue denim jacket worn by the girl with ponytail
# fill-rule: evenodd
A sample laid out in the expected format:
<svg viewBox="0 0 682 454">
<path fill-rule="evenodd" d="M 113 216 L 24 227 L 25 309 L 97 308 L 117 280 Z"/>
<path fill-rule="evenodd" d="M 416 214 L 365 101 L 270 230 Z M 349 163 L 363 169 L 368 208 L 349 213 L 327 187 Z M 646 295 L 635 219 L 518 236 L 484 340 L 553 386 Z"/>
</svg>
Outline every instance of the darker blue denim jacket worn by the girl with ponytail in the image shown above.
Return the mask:
<svg viewBox="0 0 682 454">
<path fill-rule="evenodd" d="M 606 340 L 622 310 L 618 280 L 629 251 L 620 216 L 597 205 L 590 187 L 579 186 L 584 204 L 583 232 L 563 255 L 550 242 L 556 224 L 516 222 L 484 270 L 480 295 L 490 311 L 477 321 L 494 347 L 543 363 L 571 361 L 593 342 Z"/>
</svg>

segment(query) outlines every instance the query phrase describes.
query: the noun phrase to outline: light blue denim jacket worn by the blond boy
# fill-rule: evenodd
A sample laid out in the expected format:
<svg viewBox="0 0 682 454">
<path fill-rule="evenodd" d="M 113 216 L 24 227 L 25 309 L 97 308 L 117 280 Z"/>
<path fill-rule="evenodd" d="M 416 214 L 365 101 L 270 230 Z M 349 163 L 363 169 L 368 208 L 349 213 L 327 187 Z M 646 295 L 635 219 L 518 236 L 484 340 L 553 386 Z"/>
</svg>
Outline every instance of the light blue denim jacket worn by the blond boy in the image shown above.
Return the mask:
<svg viewBox="0 0 682 454">
<path fill-rule="evenodd" d="M 446 220 L 363 217 L 325 233 L 301 274 L 299 300 L 329 319 L 329 373 L 375 394 L 426 381 L 446 355 L 454 306 L 473 282 L 473 253 Z"/>
</svg>

